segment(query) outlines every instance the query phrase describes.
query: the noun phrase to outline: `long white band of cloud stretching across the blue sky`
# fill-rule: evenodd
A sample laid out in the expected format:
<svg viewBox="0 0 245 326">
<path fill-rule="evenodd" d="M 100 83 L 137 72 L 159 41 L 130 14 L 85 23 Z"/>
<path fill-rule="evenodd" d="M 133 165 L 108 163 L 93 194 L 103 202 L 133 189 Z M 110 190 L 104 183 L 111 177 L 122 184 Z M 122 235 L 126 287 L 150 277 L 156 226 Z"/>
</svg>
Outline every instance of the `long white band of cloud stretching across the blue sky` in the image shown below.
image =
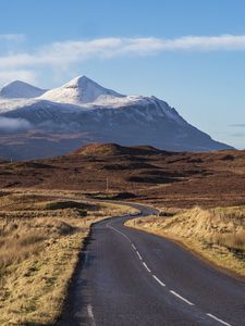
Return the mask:
<svg viewBox="0 0 245 326">
<path fill-rule="evenodd" d="M 0 41 L 23 41 L 24 35 L 0 35 Z M 26 82 L 35 79 L 38 68 L 69 68 L 71 64 L 90 59 L 150 55 L 167 51 L 245 51 L 245 35 L 184 36 L 173 39 L 145 37 L 108 37 L 90 40 L 64 40 L 36 48 L 33 51 L 9 51 L 0 54 L 2 75 L 25 75 Z M 3 76 L 0 74 L 0 83 Z M 20 77 L 19 77 L 20 79 Z"/>
</svg>

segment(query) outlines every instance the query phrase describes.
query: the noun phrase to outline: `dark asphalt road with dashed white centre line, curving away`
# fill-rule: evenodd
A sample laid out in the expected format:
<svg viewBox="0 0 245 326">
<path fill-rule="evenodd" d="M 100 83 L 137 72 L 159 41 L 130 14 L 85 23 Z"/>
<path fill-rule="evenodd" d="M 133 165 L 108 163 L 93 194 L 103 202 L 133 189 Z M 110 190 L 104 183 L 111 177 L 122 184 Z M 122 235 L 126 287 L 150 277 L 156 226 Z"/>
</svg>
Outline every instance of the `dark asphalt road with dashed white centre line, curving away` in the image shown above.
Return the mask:
<svg viewBox="0 0 245 326">
<path fill-rule="evenodd" d="M 59 326 L 245 325 L 245 283 L 128 218 L 94 225 Z"/>
</svg>

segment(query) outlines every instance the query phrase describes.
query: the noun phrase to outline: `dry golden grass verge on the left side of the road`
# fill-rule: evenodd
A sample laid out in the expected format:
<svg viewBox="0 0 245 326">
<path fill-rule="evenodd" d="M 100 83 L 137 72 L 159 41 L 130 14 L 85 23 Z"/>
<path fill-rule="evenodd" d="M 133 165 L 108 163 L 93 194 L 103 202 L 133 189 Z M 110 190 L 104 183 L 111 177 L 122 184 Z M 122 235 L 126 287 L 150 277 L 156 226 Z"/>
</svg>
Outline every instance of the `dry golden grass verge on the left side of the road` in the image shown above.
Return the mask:
<svg viewBox="0 0 245 326">
<path fill-rule="evenodd" d="M 0 325 L 51 325 L 93 223 L 125 214 L 111 203 L 0 196 Z"/>
</svg>

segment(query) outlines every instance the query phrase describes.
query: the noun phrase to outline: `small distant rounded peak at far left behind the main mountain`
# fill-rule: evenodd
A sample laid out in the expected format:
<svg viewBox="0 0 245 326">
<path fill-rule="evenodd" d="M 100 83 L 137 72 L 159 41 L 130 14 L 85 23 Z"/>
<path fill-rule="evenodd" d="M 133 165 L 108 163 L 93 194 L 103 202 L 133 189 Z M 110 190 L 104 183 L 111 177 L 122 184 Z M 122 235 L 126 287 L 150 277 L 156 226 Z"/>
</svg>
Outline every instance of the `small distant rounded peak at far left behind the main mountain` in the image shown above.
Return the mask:
<svg viewBox="0 0 245 326">
<path fill-rule="evenodd" d="M 2 87 L 0 97 L 7 99 L 36 98 L 45 93 L 46 89 L 40 89 L 21 80 L 14 80 Z"/>
</svg>

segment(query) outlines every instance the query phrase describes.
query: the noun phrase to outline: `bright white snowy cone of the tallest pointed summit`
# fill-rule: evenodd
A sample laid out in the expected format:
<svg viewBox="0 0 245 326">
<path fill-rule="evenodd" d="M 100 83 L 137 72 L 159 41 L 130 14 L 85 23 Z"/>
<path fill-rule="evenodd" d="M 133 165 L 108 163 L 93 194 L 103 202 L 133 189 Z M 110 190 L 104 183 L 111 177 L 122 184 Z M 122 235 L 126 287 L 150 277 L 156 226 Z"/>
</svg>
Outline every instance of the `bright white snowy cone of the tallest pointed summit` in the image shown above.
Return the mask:
<svg viewBox="0 0 245 326">
<path fill-rule="evenodd" d="M 86 76 L 78 76 L 59 88 L 47 91 L 42 99 L 62 103 L 89 103 L 98 100 L 99 97 L 121 98 L 122 95 L 105 88 Z"/>
</svg>

